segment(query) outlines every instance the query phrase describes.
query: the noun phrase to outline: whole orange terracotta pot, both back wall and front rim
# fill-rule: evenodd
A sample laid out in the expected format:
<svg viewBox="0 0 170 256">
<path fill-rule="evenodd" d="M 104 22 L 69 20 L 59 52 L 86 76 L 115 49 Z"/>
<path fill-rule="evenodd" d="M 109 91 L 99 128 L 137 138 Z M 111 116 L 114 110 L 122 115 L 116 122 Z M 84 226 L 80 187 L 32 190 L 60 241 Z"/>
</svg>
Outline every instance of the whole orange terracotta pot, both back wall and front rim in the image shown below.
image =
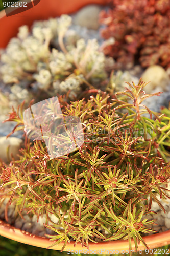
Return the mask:
<svg viewBox="0 0 170 256">
<path fill-rule="evenodd" d="M 47 19 L 49 17 L 56 17 L 63 13 L 75 12 L 87 4 L 104 5 L 106 2 L 107 0 L 50 0 L 48 2 L 46 0 L 41 0 L 40 3 L 38 3 L 35 7 L 9 17 L 6 17 L 5 11 L 3 10 L 0 13 L 0 48 L 6 47 L 9 39 L 17 34 L 18 27 L 21 25 L 31 26 L 34 20 Z M 38 237 L 26 231 L 21 231 L 17 228 L 14 228 L 3 221 L 0 221 L 0 235 L 21 243 L 42 248 L 47 248 L 54 243 L 45 237 Z M 158 234 L 153 234 L 151 236 L 146 236 L 143 238 L 143 240 L 147 243 L 149 248 L 157 248 L 160 246 L 168 245 L 170 244 L 170 230 Z M 75 242 L 70 242 L 67 244 L 64 250 L 81 251 L 84 249 L 86 250 L 84 253 L 87 253 L 86 247 L 82 247 L 80 243 L 74 247 L 74 243 Z M 129 242 L 123 240 L 100 242 L 98 244 L 90 242 L 89 245 L 90 250 L 93 251 L 93 253 L 96 251 L 96 253 L 100 254 L 114 254 L 118 253 L 118 251 L 121 252 L 123 250 L 129 250 Z M 62 246 L 63 243 L 60 243 L 51 249 L 61 250 Z M 132 249 L 135 249 L 133 240 Z M 144 250 L 144 246 L 140 243 L 138 249 Z"/>
</svg>

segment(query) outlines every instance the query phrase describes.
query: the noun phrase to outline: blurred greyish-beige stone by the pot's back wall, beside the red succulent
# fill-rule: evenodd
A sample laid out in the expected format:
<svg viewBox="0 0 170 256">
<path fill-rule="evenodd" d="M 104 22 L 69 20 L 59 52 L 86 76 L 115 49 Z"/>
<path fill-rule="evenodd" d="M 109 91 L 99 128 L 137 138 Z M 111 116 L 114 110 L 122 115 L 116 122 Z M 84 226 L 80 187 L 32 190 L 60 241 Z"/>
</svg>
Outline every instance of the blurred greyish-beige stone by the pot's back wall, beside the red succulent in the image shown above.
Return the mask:
<svg viewBox="0 0 170 256">
<path fill-rule="evenodd" d="M 98 5 L 88 5 L 82 8 L 74 18 L 74 24 L 88 29 L 99 29 L 99 13 L 101 7 Z"/>
</svg>

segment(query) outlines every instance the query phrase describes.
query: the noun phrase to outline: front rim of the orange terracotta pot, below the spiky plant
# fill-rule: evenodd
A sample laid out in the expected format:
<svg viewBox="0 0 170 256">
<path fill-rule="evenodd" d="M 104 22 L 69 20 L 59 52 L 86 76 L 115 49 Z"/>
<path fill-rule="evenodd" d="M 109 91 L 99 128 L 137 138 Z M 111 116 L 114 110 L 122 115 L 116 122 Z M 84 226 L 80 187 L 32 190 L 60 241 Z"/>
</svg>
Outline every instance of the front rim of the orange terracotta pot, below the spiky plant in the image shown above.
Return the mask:
<svg viewBox="0 0 170 256">
<path fill-rule="evenodd" d="M 47 248 L 48 246 L 54 243 L 54 241 L 50 241 L 50 239 L 46 237 L 39 237 L 29 232 L 20 230 L 2 220 L 0 220 L 0 235 L 9 239 L 15 240 L 17 242 L 21 242 L 21 243 L 29 244 L 32 246 L 41 247 L 41 248 Z M 144 242 L 147 243 L 149 249 L 154 249 L 157 247 L 170 244 L 170 230 L 164 231 L 161 233 L 151 234 L 149 236 L 144 236 L 142 238 Z M 61 250 L 63 244 L 64 242 L 61 242 L 59 245 L 54 245 L 50 249 Z M 75 241 L 71 241 L 70 243 L 67 243 L 66 247 L 64 248 L 64 251 L 86 250 L 87 252 L 87 248 L 84 246 L 82 247 L 81 243 L 77 243 L 76 246 L 74 246 L 74 244 L 75 244 Z M 102 250 L 107 250 L 108 252 L 106 251 L 106 253 L 104 254 L 112 254 L 109 252 L 113 251 L 113 249 L 115 251 L 118 250 L 119 252 L 121 252 L 122 250 L 125 250 L 125 251 L 129 250 L 129 241 L 116 240 L 116 241 L 110 241 L 110 242 L 98 242 L 96 244 L 93 242 L 89 242 L 89 248 L 92 251 L 98 250 L 99 253 L 102 252 Z M 132 250 L 135 250 L 133 239 L 132 239 Z M 141 243 L 139 243 L 138 245 L 138 250 L 145 250 L 144 246 Z"/>
</svg>

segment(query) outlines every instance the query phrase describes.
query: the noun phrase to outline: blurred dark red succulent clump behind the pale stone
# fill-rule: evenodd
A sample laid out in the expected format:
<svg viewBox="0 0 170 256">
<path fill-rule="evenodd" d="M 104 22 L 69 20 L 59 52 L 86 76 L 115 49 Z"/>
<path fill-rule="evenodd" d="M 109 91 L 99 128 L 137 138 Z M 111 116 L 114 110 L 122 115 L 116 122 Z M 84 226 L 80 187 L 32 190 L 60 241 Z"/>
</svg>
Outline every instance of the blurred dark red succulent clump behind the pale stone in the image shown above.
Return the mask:
<svg viewBox="0 0 170 256">
<path fill-rule="evenodd" d="M 130 68 L 135 61 L 142 67 L 170 66 L 169 0 L 113 0 L 112 8 L 100 13 L 100 22 L 106 25 L 102 36 L 115 38 L 104 53 L 119 67 Z"/>
</svg>

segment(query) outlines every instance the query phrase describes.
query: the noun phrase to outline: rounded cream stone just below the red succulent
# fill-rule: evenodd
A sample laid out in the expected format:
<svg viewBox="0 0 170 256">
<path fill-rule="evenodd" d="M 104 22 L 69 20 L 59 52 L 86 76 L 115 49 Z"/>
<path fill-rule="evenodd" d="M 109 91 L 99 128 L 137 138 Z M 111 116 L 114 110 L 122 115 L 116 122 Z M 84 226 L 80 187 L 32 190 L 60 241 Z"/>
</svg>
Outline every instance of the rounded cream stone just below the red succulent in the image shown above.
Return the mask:
<svg viewBox="0 0 170 256">
<path fill-rule="evenodd" d="M 168 73 L 159 65 L 150 66 L 142 74 L 142 81 L 149 82 L 147 86 L 144 87 L 146 93 L 153 93 L 153 90 L 160 88 L 162 91 L 167 90 L 169 84 Z"/>
</svg>

